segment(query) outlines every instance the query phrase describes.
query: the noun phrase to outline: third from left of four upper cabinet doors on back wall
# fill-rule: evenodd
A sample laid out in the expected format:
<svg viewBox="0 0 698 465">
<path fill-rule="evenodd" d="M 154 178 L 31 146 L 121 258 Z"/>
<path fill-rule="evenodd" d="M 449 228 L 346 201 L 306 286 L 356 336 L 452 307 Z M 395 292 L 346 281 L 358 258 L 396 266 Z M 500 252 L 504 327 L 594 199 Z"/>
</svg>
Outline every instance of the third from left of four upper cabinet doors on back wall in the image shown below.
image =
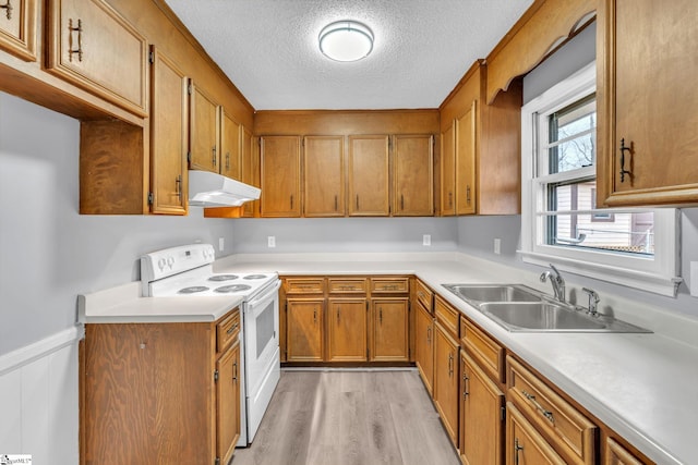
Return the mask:
<svg viewBox="0 0 698 465">
<path fill-rule="evenodd" d="M 349 136 L 349 216 L 387 217 L 389 138 Z"/>
</svg>

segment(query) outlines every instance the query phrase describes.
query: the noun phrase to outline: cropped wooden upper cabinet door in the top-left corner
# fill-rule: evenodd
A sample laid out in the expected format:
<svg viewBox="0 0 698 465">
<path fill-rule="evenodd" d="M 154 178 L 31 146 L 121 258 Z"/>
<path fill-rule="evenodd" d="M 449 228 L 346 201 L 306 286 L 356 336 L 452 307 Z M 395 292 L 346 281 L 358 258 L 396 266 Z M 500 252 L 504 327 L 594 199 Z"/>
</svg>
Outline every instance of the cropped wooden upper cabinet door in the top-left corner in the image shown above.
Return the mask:
<svg viewBox="0 0 698 465">
<path fill-rule="evenodd" d="M 0 49 L 36 61 L 37 0 L 7 0 L 0 5 Z"/>
</svg>

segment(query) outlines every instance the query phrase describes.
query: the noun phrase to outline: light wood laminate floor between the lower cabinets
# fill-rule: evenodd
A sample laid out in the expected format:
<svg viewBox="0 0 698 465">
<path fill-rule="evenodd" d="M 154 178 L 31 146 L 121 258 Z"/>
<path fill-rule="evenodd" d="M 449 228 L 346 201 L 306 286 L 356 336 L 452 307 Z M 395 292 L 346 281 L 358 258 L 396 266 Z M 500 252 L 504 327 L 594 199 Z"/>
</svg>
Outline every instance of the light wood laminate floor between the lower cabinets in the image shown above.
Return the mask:
<svg viewBox="0 0 698 465">
<path fill-rule="evenodd" d="M 232 465 L 459 465 L 416 370 L 281 371 Z"/>
</svg>

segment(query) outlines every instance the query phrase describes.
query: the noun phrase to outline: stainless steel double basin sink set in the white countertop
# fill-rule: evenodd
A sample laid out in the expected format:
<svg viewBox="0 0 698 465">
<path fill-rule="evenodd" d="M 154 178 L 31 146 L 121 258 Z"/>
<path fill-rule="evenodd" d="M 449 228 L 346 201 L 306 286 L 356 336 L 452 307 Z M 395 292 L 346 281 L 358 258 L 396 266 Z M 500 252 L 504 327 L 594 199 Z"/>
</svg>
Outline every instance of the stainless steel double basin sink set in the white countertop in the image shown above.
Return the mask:
<svg viewBox="0 0 698 465">
<path fill-rule="evenodd" d="M 508 331 L 651 332 L 558 302 L 522 284 L 443 284 Z"/>
</svg>

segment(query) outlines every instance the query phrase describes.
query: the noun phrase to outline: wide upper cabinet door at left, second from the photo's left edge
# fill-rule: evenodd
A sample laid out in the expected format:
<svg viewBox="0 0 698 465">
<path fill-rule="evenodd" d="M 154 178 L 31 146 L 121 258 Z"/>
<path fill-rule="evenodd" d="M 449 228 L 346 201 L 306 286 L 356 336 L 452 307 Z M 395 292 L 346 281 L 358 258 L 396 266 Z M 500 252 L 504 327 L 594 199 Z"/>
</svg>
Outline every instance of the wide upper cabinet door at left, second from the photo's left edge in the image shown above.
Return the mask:
<svg viewBox="0 0 698 465">
<path fill-rule="evenodd" d="M 47 71 L 147 117 L 145 38 L 101 0 L 49 0 Z"/>
</svg>

